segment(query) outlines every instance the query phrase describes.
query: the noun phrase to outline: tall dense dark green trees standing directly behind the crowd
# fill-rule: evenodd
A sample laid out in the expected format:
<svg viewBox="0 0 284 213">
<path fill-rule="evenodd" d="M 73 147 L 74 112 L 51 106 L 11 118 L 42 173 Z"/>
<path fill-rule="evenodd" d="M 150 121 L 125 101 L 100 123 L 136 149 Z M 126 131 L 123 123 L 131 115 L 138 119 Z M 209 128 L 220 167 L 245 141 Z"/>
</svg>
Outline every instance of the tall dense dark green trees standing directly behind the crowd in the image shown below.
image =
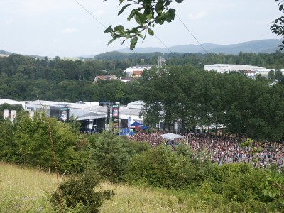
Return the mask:
<svg viewBox="0 0 284 213">
<path fill-rule="evenodd" d="M 283 80 L 282 73 L 278 73 Z M 147 125 L 173 129 L 205 130 L 214 124 L 222 133 L 278 141 L 283 139 L 284 87 L 268 86 L 265 77 L 253 80 L 239 72 L 220 74 L 195 67 L 162 67 L 145 70 L 137 80 L 145 103 L 141 115 Z M 163 113 L 161 113 L 163 112 Z"/>
</svg>

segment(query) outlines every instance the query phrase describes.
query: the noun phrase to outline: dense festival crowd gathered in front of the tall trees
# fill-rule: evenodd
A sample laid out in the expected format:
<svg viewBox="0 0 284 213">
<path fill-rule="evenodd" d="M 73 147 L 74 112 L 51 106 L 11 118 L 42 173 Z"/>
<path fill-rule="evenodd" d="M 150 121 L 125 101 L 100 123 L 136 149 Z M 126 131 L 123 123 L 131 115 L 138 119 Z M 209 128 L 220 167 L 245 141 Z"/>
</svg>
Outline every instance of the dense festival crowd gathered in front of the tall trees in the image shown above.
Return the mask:
<svg viewBox="0 0 284 213">
<path fill-rule="evenodd" d="M 284 143 L 253 141 L 249 146 L 244 146 L 239 139 L 215 136 L 196 136 L 185 134 L 182 140 L 168 141 L 162 138 L 163 133 L 137 132 L 128 136 L 129 140 L 147 141 L 151 146 L 166 145 L 179 146 L 184 143 L 191 148 L 194 158 L 204 160 L 209 158 L 212 163 L 246 162 L 255 167 L 266 168 L 268 165 L 284 167 Z"/>
</svg>

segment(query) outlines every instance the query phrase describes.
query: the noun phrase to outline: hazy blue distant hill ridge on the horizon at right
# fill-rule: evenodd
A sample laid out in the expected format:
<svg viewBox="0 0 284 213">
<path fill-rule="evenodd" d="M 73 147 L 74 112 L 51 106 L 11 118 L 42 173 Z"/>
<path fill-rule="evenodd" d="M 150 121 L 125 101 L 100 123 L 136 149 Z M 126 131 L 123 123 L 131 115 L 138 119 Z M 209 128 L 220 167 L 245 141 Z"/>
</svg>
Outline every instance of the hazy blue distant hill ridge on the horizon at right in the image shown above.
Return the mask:
<svg viewBox="0 0 284 213">
<path fill-rule="evenodd" d="M 243 53 L 275 53 L 281 45 L 280 39 L 253 40 L 231 45 L 204 43 L 202 47 L 207 53 L 224 53 L 237 55 Z M 177 45 L 168 48 L 135 48 L 135 53 L 206 53 L 200 45 Z M 170 51 L 168 50 L 170 49 Z M 121 53 L 132 53 L 129 49 L 116 50 Z"/>
</svg>

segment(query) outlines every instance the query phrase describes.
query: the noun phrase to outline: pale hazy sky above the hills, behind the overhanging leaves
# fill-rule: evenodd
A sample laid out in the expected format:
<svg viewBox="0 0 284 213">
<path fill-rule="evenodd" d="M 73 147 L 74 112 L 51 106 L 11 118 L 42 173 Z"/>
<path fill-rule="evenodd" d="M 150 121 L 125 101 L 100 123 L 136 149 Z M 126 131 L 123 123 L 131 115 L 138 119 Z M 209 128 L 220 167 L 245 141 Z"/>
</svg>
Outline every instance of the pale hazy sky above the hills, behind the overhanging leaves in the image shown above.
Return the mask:
<svg viewBox="0 0 284 213">
<path fill-rule="evenodd" d="M 136 47 L 280 39 L 270 29 L 283 16 L 274 0 L 185 0 L 171 8 L 175 20 L 155 25 L 155 36 Z M 126 48 L 119 40 L 107 45 L 111 35 L 104 33 L 110 25 L 134 26 L 126 20 L 130 11 L 117 16 L 119 9 L 119 0 L 0 0 L 0 50 L 62 58 Z"/>
</svg>

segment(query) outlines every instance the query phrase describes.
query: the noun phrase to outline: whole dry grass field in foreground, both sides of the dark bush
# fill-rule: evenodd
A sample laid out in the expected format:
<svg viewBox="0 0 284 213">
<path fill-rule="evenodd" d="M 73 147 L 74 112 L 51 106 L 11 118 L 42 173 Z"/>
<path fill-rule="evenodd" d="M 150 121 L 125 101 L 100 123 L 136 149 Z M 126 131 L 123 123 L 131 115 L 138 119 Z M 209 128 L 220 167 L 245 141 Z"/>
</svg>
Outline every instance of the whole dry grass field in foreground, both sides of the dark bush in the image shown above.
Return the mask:
<svg viewBox="0 0 284 213">
<path fill-rule="evenodd" d="M 0 163 L 0 174 L 0 212 L 53 212 L 48 193 L 56 190 L 55 175 L 7 163 Z M 101 188 L 114 190 L 115 195 L 100 212 L 212 212 L 204 203 L 173 191 L 109 182 Z"/>
</svg>

